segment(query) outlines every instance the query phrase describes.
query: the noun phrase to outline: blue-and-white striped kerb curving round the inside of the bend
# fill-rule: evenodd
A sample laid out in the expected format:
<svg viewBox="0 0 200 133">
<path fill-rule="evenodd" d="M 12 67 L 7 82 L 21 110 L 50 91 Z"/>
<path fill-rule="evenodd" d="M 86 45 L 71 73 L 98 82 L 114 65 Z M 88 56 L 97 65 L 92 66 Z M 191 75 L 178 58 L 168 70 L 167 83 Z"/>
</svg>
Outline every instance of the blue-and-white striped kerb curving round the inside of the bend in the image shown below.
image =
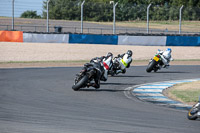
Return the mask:
<svg viewBox="0 0 200 133">
<path fill-rule="evenodd" d="M 173 107 L 176 109 L 189 109 L 190 105 L 183 104 L 178 101 L 174 101 L 169 99 L 168 97 L 162 94 L 163 90 L 174 86 L 175 84 L 185 83 L 185 82 L 193 82 L 199 81 L 199 79 L 185 79 L 185 80 L 174 80 L 174 81 L 166 81 L 166 82 L 156 82 L 156 83 L 148 83 L 141 84 L 133 87 L 126 88 L 125 90 L 131 91 L 131 93 L 142 101 L 152 102 L 159 105 L 164 105 L 168 107 Z M 125 93 L 125 95 L 130 98 L 129 95 Z"/>
</svg>

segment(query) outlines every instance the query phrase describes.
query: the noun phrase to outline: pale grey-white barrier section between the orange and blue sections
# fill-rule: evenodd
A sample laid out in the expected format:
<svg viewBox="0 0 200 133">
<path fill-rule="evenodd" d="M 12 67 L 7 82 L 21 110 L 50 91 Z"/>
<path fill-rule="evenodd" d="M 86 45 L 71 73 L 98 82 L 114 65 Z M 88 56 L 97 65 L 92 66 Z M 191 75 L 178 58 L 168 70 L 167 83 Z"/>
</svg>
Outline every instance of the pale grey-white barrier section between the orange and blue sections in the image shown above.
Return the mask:
<svg viewBox="0 0 200 133">
<path fill-rule="evenodd" d="M 24 42 L 36 42 L 36 43 L 68 43 L 68 34 L 36 34 L 36 33 L 24 33 Z"/>
</svg>

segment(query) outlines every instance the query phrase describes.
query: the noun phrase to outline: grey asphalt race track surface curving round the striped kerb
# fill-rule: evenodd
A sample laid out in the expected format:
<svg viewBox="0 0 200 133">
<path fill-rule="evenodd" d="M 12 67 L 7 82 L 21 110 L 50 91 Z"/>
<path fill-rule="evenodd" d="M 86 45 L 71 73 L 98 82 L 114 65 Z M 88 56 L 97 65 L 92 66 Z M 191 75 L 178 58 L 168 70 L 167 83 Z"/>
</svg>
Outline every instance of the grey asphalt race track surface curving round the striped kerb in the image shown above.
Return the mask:
<svg viewBox="0 0 200 133">
<path fill-rule="evenodd" d="M 99 90 L 73 91 L 80 67 L 0 69 L 0 133 L 197 133 L 186 112 L 133 97 L 125 88 L 200 78 L 200 66 L 144 66 L 109 77 Z"/>
</svg>

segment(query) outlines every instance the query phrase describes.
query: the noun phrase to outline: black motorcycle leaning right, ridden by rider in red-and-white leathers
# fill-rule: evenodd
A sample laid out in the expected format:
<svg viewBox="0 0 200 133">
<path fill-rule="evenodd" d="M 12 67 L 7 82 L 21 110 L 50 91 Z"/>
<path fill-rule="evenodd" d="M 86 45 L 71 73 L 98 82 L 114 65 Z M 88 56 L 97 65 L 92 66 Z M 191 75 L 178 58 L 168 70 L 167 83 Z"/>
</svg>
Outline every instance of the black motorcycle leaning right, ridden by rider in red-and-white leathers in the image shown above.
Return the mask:
<svg viewBox="0 0 200 133">
<path fill-rule="evenodd" d="M 98 68 L 91 63 L 86 63 L 80 73 L 76 74 L 74 85 L 72 89 L 78 91 L 80 88 L 87 87 L 87 84 L 94 80 Z"/>
</svg>

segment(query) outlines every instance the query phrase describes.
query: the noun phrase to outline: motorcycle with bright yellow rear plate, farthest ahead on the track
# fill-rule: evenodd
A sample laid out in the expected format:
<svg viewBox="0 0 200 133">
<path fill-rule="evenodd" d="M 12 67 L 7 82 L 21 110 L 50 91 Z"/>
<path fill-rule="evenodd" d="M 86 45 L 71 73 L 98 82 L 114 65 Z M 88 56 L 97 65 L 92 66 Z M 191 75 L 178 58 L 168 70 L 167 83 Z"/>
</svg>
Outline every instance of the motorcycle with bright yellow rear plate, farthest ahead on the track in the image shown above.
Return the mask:
<svg viewBox="0 0 200 133">
<path fill-rule="evenodd" d="M 154 72 L 157 72 L 158 69 L 160 69 L 163 65 L 164 63 L 162 62 L 162 58 L 160 54 L 158 53 L 153 57 L 153 59 L 149 61 L 146 71 L 151 72 L 154 70 Z"/>
</svg>

